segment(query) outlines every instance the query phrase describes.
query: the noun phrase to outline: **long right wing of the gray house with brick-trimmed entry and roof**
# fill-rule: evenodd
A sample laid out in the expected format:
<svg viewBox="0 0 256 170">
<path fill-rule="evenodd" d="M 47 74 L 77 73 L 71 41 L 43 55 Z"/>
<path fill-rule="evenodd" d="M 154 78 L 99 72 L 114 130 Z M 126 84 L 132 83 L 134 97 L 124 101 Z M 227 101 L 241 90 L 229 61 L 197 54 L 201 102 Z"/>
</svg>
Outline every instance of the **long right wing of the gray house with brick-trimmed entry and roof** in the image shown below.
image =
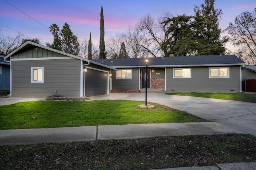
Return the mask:
<svg viewBox="0 0 256 170">
<path fill-rule="evenodd" d="M 164 92 L 241 92 L 241 66 L 235 55 L 154 57 L 93 60 L 118 70 L 112 72 L 111 92 L 138 93 L 148 88 Z"/>
</svg>

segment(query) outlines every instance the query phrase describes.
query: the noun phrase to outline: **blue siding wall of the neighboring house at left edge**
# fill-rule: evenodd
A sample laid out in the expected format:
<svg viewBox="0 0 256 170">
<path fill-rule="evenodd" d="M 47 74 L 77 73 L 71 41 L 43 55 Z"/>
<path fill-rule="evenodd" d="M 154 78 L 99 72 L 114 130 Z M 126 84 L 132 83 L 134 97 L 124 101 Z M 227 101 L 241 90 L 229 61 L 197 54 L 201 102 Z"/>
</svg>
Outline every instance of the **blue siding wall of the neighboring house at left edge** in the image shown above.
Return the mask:
<svg viewBox="0 0 256 170">
<path fill-rule="evenodd" d="M 10 66 L 5 64 L 0 64 L 2 67 L 2 74 L 0 74 L 0 91 L 10 90 Z"/>
</svg>

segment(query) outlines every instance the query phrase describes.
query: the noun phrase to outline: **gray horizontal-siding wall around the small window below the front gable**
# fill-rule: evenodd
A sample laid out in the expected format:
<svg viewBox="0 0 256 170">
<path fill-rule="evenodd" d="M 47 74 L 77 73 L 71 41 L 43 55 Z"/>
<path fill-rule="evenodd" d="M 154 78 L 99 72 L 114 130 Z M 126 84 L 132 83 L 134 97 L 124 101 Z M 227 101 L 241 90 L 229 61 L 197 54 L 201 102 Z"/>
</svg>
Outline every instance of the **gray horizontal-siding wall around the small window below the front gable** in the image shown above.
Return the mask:
<svg viewBox="0 0 256 170">
<path fill-rule="evenodd" d="M 44 67 L 44 83 L 31 83 L 31 67 Z M 78 59 L 12 61 L 12 97 L 80 97 Z"/>
</svg>

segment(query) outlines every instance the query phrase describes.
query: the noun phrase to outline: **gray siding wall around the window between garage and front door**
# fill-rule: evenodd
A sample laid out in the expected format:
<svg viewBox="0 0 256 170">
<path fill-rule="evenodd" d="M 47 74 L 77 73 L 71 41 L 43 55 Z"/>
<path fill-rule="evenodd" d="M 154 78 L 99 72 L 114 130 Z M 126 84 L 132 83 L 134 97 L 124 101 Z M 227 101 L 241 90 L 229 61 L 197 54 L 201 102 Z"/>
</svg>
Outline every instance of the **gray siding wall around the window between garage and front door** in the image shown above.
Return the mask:
<svg viewBox="0 0 256 170">
<path fill-rule="evenodd" d="M 139 90 L 139 76 L 139 68 L 132 68 L 132 78 L 124 79 L 116 79 L 116 71 L 113 71 L 112 90 Z"/>
</svg>

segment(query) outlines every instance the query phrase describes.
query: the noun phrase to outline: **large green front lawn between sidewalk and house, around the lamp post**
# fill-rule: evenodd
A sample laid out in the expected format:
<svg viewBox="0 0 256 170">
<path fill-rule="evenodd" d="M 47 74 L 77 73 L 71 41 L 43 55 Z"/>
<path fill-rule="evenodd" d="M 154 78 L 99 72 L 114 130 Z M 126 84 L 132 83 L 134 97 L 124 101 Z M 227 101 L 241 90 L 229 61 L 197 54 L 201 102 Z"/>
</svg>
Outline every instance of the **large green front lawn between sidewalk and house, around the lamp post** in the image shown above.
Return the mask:
<svg viewBox="0 0 256 170">
<path fill-rule="evenodd" d="M 0 106 L 0 130 L 205 121 L 159 104 L 153 104 L 155 109 L 138 107 L 143 103 L 124 100 L 21 102 Z"/>
</svg>

